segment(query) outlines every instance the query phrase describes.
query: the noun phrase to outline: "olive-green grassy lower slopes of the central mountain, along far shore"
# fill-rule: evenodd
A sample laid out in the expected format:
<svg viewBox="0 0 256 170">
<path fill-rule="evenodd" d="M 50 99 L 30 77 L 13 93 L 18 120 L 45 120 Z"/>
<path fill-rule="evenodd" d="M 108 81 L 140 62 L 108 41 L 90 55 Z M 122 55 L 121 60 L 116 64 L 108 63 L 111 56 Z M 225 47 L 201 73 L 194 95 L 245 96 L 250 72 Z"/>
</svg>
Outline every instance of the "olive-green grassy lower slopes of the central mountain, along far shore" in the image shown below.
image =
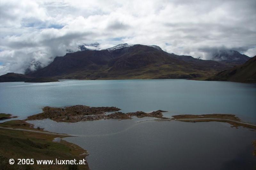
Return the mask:
<svg viewBox="0 0 256 170">
<path fill-rule="evenodd" d="M 214 69 L 189 68 L 172 64 L 149 64 L 145 67 L 128 70 L 111 71 L 109 67 L 101 67 L 97 71 L 83 70 L 56 76 L 59 79 L 82 80 L 122 80 L 122 79 L 188 79 L 194 75 L 212 76 L 218 71 Z"/>
</svg>

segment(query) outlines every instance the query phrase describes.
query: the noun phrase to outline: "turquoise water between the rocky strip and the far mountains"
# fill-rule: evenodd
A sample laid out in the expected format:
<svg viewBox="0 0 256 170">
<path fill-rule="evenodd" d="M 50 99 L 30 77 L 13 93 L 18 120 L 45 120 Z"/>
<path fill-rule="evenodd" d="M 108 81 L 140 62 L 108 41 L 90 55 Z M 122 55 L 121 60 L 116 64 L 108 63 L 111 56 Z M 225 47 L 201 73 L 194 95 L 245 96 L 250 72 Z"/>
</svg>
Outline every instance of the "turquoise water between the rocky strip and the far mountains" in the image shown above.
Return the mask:
<svg viewBox="0 0 256 170">
<path fill-rule="evenodd" d="M 123 112 L 167 110 L 177 114 L 236 114 L 256 122 L 256 85 L 190 80 L 92 80 L 0 83 L 0 112 L 19 119 L 42 107 L 116 106 Z"/>
</svg>

